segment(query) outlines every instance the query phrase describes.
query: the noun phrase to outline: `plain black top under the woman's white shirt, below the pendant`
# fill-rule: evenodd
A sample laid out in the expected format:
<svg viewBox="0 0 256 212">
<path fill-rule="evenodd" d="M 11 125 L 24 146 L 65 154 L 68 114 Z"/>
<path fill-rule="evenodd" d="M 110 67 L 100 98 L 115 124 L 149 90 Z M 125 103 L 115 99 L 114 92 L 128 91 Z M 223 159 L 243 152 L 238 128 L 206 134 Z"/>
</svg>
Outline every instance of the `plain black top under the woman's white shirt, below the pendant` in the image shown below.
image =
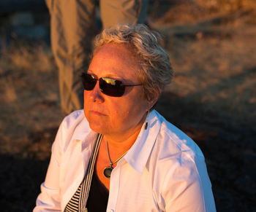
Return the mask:
<svg viewBox="0 0 256 212">
<path fill-rule="evenodd" d="M 108 205 L 108 194 L 108 189 L 99 180 L 96 170 L 94 170 L 94 174 L 91 179 L 89 197 L 86 203 L 88 212 L 105 212 Z"/>
</svg>

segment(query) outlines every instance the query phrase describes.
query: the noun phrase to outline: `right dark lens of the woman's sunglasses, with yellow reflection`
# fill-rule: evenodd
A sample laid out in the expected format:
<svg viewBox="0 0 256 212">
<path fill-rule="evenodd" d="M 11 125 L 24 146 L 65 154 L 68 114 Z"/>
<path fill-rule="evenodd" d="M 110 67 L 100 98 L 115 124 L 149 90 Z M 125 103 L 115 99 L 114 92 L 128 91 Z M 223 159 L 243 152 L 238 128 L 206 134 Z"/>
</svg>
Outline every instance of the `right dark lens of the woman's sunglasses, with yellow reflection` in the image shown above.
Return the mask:
<svg viewBox="0 0 256 212">
<path fill-rule="evenodd" d="M 125 86 L 116 79 L 100 78 L 99 88 L 105 95 L 120 97 L 124 95 Z"/>
</svg>

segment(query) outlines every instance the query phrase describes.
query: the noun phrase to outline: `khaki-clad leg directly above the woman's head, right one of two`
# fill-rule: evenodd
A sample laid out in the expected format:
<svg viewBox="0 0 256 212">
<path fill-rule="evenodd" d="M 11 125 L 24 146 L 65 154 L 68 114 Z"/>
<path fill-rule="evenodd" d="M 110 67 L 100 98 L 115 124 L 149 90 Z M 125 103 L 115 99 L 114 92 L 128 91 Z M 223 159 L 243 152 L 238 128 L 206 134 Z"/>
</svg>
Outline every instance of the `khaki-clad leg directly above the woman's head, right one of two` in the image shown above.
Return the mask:
<svg viewBox="0 0 256 212">
<path fill-rule="evenodd" d="M 102 0 L 100 14 L 103 28 L 117 23 L 145 23 L 148 0 Z"/>
</svg>

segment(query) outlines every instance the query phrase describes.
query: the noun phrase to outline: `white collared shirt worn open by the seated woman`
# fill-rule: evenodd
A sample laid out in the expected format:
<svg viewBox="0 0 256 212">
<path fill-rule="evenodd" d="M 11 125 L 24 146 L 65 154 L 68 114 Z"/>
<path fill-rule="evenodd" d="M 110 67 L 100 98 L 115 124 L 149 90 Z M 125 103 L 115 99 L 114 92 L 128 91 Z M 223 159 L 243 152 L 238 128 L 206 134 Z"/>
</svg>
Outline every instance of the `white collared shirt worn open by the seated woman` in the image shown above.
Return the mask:
<svg viewBox="0 0 256 212">
<path fill-rule="evenodd" d="M 111 173 L 107 211 L 216 211 L 197 144 L 157 111 L 149 114 L 146 130 L 144 125 Z M 34 212 L 64 211 L 83 180 L 96 138 L 83 110 L 64 119 Z"/>
</svg>

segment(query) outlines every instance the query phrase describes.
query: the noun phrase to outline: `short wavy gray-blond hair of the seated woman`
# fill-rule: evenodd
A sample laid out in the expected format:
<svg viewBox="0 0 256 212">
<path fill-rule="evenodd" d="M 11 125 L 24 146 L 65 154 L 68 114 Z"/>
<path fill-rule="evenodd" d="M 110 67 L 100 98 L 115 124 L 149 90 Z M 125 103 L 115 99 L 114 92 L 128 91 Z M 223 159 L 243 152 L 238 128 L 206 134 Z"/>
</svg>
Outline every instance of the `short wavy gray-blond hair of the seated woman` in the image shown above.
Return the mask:
<svg viewBox="0 0 256 212">
<path fill-rule="evenodd" d="M 156 31 L 149 31 L 146 25 L 118 24 L 96 36 L 93 53 L 104 44 L 129 44 L 141 67 L 138 80 L 143 84 L 143 98 L 151 101 L 162 93 L 173 77 L 169 55 L 158 44 L 160 38 Z"/>
</svg>

